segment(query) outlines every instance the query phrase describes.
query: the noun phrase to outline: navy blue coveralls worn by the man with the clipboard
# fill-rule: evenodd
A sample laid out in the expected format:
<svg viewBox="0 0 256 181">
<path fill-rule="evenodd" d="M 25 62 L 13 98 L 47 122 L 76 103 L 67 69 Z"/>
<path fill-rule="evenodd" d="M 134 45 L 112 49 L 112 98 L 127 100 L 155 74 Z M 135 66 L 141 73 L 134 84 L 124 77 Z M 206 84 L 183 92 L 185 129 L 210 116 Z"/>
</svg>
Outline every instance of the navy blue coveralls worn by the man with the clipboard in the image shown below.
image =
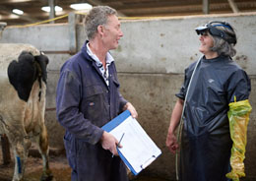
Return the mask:
<svg viewBox="0 0 256 181">
<path fill-rule="evenodd" d="M 114 62 L 108 67 L 108 87 L 86 43 L 62 66 L 56 93 L 57 119 L 66 129 L 64 145 L 72 181 L 128 181 L 119 156 L 112 157 L 99 143 L 100 127 L 116 117 L 127 100 L 118 91 Z"/>
</svg>

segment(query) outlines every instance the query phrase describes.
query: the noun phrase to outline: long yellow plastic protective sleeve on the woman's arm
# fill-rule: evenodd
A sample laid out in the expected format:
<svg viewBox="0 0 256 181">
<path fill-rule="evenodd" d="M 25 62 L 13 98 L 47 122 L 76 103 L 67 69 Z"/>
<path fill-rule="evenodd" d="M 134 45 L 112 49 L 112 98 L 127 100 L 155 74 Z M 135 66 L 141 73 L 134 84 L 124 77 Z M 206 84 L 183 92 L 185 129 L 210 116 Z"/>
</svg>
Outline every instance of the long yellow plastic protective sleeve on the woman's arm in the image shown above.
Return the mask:
<svg viewBox="0 0 256 181">
<path fill-rule="evenodd" d="M 252 108 L 248 99 L 238 102 L 234 101 L 228 105 L 229 111 L 227 112 L 227 116 L 230 136 L 233 142 L 230 156 L 232 169 L 225 176 L 233 181 L 239 181 L 240 177 L 245 176 L 243 160 L 247 143 L 247 125 Z"/>
</svg>

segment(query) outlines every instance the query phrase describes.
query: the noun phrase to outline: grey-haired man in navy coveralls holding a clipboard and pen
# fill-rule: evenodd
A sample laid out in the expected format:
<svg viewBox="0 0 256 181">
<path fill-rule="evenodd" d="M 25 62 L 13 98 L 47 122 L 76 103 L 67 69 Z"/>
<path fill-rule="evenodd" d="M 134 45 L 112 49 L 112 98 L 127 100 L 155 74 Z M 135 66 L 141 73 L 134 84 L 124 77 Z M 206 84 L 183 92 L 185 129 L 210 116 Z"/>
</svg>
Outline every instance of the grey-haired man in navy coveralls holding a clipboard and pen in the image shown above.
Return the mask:
<svg viewBox="0 0 256 181">
<path fill-rule="evenodd" d="M 128 109 L 137 112 L 120 92 L 114 59 L 108 52 L 123 36 L 116 11 L 97 6 L 88 14 L 86 41 L 61 68 L 57 87 L 57 119 L 66 129 L 64 145 L 72 181 L 127 181 L 116 151 L 118 141 L 101 127 Z"/>
</svg>

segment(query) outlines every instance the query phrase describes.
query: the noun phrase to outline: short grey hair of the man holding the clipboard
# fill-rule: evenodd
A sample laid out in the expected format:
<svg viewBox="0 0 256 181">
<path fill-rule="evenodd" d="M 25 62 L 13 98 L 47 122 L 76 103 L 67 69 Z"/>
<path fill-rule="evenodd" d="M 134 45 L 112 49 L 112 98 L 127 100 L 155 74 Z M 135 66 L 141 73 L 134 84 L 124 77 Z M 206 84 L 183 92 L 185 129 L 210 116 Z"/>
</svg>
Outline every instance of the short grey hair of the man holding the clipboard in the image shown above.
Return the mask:
<svg viewBox="0 0 256 181">
<path fill-rule="evenodd" d="M 96 36 L 98 26 L 106 25 L 107 18 L 111 15 L 117 16 L 117 12 L 109 6 L 96 6 L 89 12 L 85 20 L 85 30 L 89 40 Z"/>
</svg>

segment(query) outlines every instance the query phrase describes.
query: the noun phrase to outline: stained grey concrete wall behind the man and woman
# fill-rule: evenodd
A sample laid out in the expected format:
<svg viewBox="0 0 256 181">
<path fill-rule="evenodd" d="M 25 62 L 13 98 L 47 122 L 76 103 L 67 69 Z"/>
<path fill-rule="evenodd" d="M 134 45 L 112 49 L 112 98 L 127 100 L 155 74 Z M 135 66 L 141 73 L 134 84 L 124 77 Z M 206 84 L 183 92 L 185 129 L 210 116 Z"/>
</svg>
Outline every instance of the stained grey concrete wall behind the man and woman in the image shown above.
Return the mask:
<svg viewBox="0 0 256 181">
<path fill-rule="evenodd" d="M 194 29 L 209 21 L 224 20 L 237 31 L 237 55 L 234 60 L 251 78 L 250 102 L 256 107 L 256 14 L 236 14 L 122 22 L 124 37 L 112 54 L 116 60 L 122 94 L 139 112 L 138 121 L 156 142 L 162 155 L 143 173 L 174 179 L 174 155 L 165 148 L 165 136 L 174 93 L 183 82 L 183 71 L 201 54 Z M 86 39 L 83 26 L 76 26 L 77 45 Z M 31 43 L 46 51 L 50 59 L 46 103 L 46 125 L 50 146 L 63 148 L 64 130 L 55 118 L 55 90 L 60 66 L 71 55 L 69 25 L 46 25 L 32 28 L 6 29 L 0 42 Z M 256 112 L 251 113 L 246 151 L 246 174 L 256 178 Z"/>
</svg>

